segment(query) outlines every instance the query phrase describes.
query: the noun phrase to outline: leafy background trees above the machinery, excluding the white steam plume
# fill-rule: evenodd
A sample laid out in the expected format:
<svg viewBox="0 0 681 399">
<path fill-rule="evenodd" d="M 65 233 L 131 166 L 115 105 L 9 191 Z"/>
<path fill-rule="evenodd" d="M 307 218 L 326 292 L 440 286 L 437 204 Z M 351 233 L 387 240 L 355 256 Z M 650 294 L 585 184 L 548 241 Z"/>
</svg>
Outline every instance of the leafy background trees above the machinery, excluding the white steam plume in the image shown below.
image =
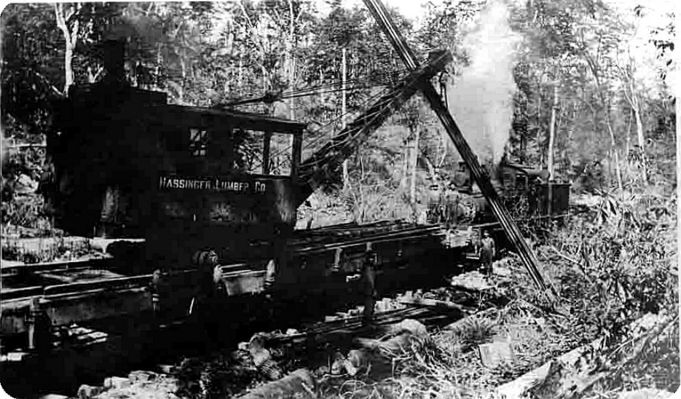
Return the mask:
<svg viewBox="0 0 681 399">
<path fill-rule="evenodd" d="M 457 78 L 467 65 L 469 49 L 464 48 L 463 38 L 485 4 L 429 5 L 418 27 L 396 10 L 389 12 L 421 58 L 442 47 L 453 53 L 454 62 L 436 78 L 443 83 Z M 337 2 L 328 14 L 298 0 L 72 3 L 63 8 L 65 13 L 74 11 L 67 22 L 77 39 L 76 83 L 102 78 L 97 55 L 102 40 L 126 37 L 126 70 L 132 85 L 166 91 L 173 102 L 204 106 L 236 107 L 230 105 L 235 100 L 265 96 L 268 101 L 238 107 L 323 126 L 309 130 L 305 154 L 323 145 L 343 121 L 366 109 L 382 88 L 405 73 L 368 12 L 361 7 L 346 9 Z M 557 178 L 592 192 L 615 184 L 618 170 L 624 185 L 673 181 L 676 168 L 669 143 L 675 140 L 675 118 L 665 80 L 674 66 L 672 16 L 648 5 L 628 10 L 596 0 L 514 6 L 511 22 L 524 41 L 515 68 L 518 92 L 509 158 L 534 166 L 546 163 L 553 89 L 558 86 Z M 639 40 L 639 31 L 646 33 L 644 41 Z M 63 95 L 65 48 L 55 9 L 47 4 L 9 5 L 2 14 L 2 33 L 3 127 L 8 130 L 6 126 L 13 123 L 11 115 L 27 126 L 20 130 L 38 137 L 49 129 L 51 100 Z M 347 115 L 340 112 L 343 51 Z M 640 121 L 634 117 L 636 112 Z M 405 165 L 415 169 L 416 192 L 423 192 L 435 180 L 446 180 L 448 170 L 455 167 L 456 152 L 422 99 L 411 101 L 391 123 L 396 142 L 390 151 L 350 160 L 355 174 L 350 201 L 370 200 L 371 195 L 359 195 L 358 184 L 371 186 L 380 177 L 391 180 L 386 185 L 388 197 L 396 203 L 390 206 L 412 206 L 415 196 L 405 187 L 409 174 L 386 174 L 386 170 L 404 170 Z M 414 125 L 421 128 L 417 143 Z M 637 137 L 639 128 L 643 145 Z M 410 146 L 417 150 L 415 163 Z M 602 173 L 594 178 L 589 173 L 597 162 Z M 359 171 L 362 167 L 364 172 Z M 381 207 L 374 208 L 380 215 L 367 209 L 359 212 L 361 218 L 385 216 Z"/>
</svg>

